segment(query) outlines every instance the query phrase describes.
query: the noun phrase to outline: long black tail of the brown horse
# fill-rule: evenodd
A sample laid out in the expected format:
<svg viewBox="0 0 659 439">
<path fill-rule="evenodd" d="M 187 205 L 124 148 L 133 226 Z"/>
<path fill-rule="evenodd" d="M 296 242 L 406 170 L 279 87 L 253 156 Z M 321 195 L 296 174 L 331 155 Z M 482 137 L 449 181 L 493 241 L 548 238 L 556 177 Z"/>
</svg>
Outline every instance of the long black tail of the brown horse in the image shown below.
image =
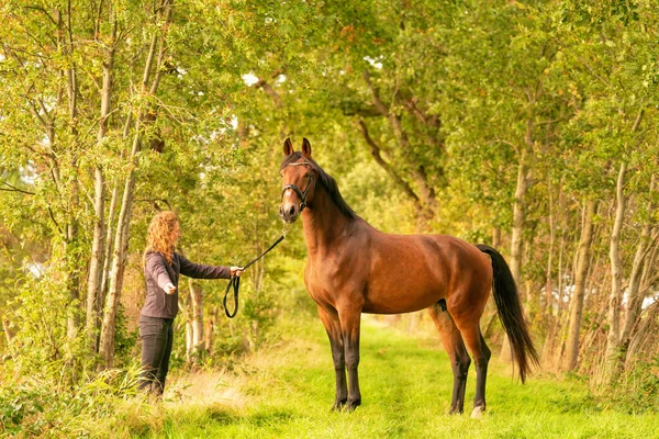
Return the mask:
<svg viewBox="0 0 659 439">
<path fill-rule="evenodd" d="M 526 375 L 530 372 L 532 363 L 538 365 L 539 361 L 538 352 L 533 346 L 524 320 L 513 273 L 511 273 L 511 269 L 499 251 L 484 245 L 476 247 L 490 255 L 492 259 L 492 290 L 494 291 L 496 311 L 505 334 L 509 336 L 513 358 L 520 367 L 520 379 L 524 382 Z"/>
</svg>

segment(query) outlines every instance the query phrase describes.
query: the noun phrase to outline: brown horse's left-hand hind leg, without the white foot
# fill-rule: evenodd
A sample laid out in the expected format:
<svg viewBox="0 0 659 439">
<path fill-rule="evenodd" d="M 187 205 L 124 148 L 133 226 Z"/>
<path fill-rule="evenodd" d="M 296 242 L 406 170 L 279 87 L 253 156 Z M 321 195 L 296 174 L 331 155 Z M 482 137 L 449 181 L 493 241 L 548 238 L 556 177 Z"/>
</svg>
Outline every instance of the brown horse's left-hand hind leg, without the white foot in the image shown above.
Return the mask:
<svg viewBox="0 0 659 439">
<path fill-rule="evenodd" d="M 458 330 L 453 317 L 446 311 L 446 305 L 436 303 L 428 308 L 431 317 L 442 337 L 444 349 L 450 358 L 450 367 L 454 372 L 454 391 L 450 403 L 450 414 L 462 413 L 465 408 L 465 387 L 467 385 L 467 372 L 471 360 L 465 348 L 462 336 Z"/>
</svg>

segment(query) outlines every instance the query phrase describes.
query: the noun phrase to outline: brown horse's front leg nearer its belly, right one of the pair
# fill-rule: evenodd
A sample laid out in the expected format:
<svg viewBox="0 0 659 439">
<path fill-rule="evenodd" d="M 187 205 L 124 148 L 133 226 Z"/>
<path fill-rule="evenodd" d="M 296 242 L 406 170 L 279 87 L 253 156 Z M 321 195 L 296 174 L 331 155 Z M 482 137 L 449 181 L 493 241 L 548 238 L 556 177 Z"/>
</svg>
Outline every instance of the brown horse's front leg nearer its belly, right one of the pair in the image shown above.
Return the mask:
<svg viewBox="0 0 659 439">
<path fill-rule="evenodd" d="M 359 330 L 361 322 L 361 306 L 350 303 L 339 307 L 338 317 L 343 333 L 343 341 L 348 369 L 348 403 L 346 410 L 351 412 L 361 405 L 361 392 L 359 391 Z"/>
</svg>

